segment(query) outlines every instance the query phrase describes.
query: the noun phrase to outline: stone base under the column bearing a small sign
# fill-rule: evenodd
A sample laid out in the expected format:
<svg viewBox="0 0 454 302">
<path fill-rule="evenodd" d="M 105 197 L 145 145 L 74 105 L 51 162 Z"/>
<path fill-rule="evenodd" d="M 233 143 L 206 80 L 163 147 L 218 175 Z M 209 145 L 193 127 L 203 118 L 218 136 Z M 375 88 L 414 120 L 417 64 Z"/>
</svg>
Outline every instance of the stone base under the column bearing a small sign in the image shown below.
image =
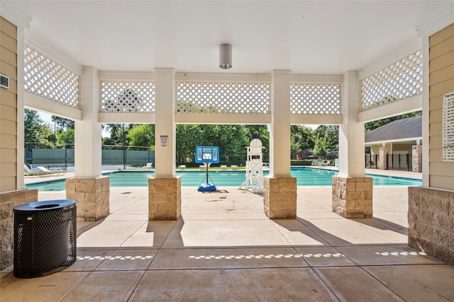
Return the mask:
<svg viewBox="0 0 454 302">
<path fill-rule="evenodd" d="M 182 179 L 148 178 L 148 220 L 177 220 L 182 214 Z"/>
</svg>

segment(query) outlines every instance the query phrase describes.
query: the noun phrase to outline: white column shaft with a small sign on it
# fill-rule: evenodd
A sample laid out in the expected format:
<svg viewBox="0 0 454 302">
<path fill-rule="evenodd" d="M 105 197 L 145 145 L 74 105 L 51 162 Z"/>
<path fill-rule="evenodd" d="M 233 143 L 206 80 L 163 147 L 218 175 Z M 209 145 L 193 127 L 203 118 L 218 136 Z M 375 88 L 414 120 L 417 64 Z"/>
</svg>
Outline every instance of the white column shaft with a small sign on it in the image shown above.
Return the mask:
<svg viewBox="0 0 454 302">
<path fill-rule="evenodd" d="M 175 178 L 175 70 L 155 69 L 155 178 Z M 167 137 L 167 145 L 162 139 Z"/>
</svg>

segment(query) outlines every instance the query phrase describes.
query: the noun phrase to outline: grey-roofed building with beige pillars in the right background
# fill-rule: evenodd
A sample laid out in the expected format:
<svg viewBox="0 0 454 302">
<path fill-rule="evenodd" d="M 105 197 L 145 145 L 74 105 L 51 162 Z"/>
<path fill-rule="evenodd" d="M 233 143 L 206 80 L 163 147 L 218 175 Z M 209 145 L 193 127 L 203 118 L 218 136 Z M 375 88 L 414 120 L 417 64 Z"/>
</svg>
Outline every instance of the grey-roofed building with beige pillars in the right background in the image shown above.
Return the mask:
<svg viewBox="0 0 454 302">
<path fill-rule="evenodd" d="M 422 116 L 395 120 L 365 134 L 366 166 L 381 170 L 422 171 Z M 372 162 L 372 163 L 370 163 Z"/>
</svg>

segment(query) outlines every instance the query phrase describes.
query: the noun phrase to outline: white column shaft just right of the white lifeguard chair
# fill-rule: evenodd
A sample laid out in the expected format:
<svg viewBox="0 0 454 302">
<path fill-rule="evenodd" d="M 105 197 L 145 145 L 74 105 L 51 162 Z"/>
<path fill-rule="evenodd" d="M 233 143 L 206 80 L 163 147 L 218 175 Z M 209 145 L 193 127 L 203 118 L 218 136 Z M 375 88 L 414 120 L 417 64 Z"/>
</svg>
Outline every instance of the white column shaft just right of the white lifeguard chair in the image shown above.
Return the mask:
<svg viewBox="0 0 454 302">
<path fill-rule="evenodd" d="M 271 74 L 270 177 L 290 177 L 290 71 Z"/>
</svg>

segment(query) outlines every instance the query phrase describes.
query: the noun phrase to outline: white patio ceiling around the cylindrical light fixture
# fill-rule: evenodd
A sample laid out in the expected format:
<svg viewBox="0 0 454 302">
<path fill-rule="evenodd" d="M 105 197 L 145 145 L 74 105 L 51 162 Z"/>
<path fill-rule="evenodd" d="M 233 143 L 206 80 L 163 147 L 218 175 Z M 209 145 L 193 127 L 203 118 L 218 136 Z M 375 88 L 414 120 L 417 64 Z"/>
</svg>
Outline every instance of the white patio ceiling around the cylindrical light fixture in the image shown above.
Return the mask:
<svg viewBox="0 0 454 302">
<path fill-rule="evenodd" d="M 4 1 L 2 1 L 4 2 Z M 26 39 L 103 71 L 343 74 L 418 37 L 453 1 L 13 1 Z M 233 45 L 233 68 L 218 45 Z"/>
</svg>

